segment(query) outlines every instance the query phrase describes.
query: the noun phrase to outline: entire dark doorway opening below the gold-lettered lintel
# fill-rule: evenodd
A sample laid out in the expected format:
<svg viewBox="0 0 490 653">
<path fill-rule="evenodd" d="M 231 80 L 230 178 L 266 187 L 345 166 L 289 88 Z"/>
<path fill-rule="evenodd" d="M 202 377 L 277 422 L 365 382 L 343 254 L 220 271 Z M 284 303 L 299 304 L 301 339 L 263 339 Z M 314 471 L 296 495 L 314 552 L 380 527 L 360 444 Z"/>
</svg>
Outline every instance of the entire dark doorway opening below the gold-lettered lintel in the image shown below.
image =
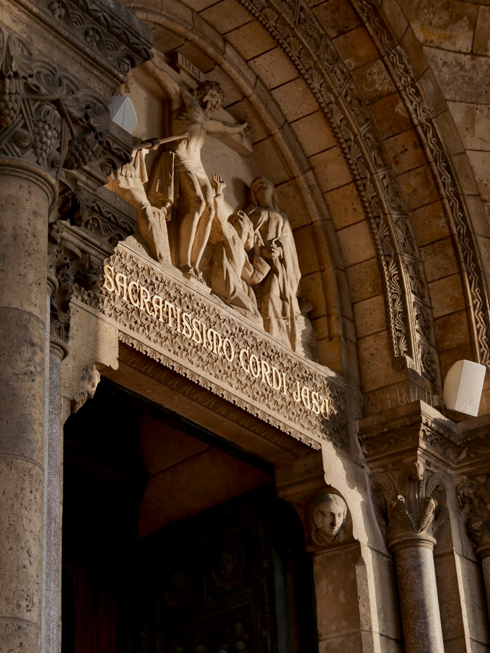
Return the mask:
<svg viewBox="0 0 490 653">
<path fill-rule="evenodd" d="M 64 493 L 63 653 L 316 650 L 269 462 L 102 381 L 65 426 Z"/>
</svg>

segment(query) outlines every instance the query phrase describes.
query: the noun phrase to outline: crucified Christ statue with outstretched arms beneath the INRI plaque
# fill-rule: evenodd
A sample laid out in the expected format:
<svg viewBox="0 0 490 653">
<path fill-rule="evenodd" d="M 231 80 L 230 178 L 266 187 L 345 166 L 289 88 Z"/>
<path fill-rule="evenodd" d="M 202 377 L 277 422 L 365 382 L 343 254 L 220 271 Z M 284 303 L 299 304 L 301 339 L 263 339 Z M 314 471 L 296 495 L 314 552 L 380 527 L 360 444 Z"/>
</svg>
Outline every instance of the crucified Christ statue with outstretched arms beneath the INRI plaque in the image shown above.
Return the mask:
<svg viewBox="0 0 490 653">
<path fill-rule="evenodd" d="M 201 162 L 201 149 L 208 133 L 248 135 L 248 123 L 227 123 L 211 118 L 224 102 L 218 82 L 201 82 L 195 90 L 181 88 L 152 63 L 145 65 L 172 98 L 172 135 L 189 133 L 174 148 L 174 170 L 183 202 L 179 224 L 179 268 L 203 281 L 199 270 L 215 215 L 214 193 Z"/>
</svg>

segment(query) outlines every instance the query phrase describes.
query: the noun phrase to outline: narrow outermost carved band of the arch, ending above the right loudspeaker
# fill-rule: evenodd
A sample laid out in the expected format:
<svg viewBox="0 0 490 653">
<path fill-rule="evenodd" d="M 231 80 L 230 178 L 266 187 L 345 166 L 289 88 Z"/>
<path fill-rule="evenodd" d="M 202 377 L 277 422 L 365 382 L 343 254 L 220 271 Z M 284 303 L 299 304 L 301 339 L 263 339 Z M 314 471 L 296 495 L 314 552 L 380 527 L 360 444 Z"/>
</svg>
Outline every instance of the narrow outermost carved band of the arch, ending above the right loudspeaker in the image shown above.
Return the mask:
<svg viewBox="0 0 490 653">
<path fill-rule="evenodd" d="M 378 14 L 375 0 L 352 0 L 365 23 L 379 52 L 384 57 L 391 76 L 405 100 L 414 125 L 427 151 L 427 159 L 438 183 L 446 215 L 453 234 L 455 246 L 465 272 L 464 284 L 467 304 L 472 307 L 472 332 L 478 362 L 490 366 L 488 332 L 489 296 L 480 251 L 471 226 L 470 216 L 463 193 L 457 182 L 451 157 L 440 135 L 436 118 L 425 93 L 402 48 L 391 37 L 390 30 Z"/>
</svg>

